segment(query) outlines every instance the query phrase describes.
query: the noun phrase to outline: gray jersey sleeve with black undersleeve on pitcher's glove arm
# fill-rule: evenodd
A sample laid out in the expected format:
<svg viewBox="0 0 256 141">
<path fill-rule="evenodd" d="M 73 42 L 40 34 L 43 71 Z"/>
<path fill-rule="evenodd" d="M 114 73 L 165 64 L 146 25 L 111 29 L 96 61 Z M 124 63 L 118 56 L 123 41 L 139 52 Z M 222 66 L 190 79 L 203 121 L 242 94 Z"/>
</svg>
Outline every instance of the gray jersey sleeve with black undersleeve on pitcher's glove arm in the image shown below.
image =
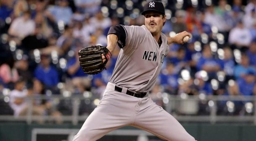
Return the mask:
<svg viewBox="0 0 256 141">
<path fill-rule="evenodd" d="M 137 48 L 140 42 L 145 38 L 146 31 L 141 26 L 111 26 L 108 32 L 118 36 L 118 46 Z"/>
</svg>

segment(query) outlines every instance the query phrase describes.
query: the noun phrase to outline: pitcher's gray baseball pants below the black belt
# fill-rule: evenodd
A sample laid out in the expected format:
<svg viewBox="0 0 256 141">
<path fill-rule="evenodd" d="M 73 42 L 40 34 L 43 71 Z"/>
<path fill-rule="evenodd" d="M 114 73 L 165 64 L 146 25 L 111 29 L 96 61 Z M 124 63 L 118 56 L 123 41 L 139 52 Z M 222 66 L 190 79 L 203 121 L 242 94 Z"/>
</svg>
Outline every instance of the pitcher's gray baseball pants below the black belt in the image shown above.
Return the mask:
<svg viewBox="0 0 256 141">
<path fill-rule="evenodd" d="M 148 96 L 137 98 L 115 91 L 108 83 L 100 104 L 84 122 L 73 141 L 96 141 L 110 131 L 134 126 L 167 141 L 195 141 L 180 123 Z"/>
</svg>

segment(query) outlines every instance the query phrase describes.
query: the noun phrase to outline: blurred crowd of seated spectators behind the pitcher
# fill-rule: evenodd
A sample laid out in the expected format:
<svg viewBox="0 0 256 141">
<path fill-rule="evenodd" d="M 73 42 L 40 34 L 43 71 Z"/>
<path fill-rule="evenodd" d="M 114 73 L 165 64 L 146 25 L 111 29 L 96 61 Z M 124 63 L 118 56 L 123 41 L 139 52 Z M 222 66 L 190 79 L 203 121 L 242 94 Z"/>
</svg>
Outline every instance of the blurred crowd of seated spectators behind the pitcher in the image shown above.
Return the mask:
<svg viewBox="0 0 256 141">
<path fill-rule="evenodd" d="M 256 95 L 256 0 L 162 2 L 167 15 L 162 32 L 172 37 L 189 31 L 192 38 L 183 45 L 170 45 L 151 94 L 157 104 L 164 106 L 163 93 L 181 97 Z M 67 113 L 61 111 L 61 102 L 53 104 L 51 95 L 84 94 L 100 99 L 120 49 L 112 52 L 107 69 L 93 76 L 83 73 L 77 52 L 89 45 L 107 45 L 107 32 L 113 25 L 144 24 L 140 13 L 145 3 L 0 0 L 0 89 L 4 95 L 10 91 L 5 102 L 14 115 L 26 114 L 29 95 L 49 96 L 34 99 L 33 114 L 54 115 L 59 123 L 60 115 Z M 217 113 L 245 114 L 245 106 L 251 103 L 230 102 L 219 101 Z M 64 102 L 64 107 L 67 104 Z M 190 114 L 209 113 L 207 102 L 194 105 L 198 108 Z"/>
</svg>

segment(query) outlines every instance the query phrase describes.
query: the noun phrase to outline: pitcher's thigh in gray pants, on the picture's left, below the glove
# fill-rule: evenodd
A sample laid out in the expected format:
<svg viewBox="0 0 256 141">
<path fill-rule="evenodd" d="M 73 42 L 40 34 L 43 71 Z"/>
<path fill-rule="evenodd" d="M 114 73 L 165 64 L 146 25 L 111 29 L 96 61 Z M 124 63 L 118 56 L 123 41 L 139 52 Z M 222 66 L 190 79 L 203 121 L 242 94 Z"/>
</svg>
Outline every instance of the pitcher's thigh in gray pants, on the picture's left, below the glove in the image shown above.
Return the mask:
<svg viewBox="0 0 256 141">
<path fill-rule="evenodd" d="M 73 141 L 96 141 L 110 131 L 127 124 L 125 118 L 119 118 L 120 112 L 112 105 L 97 107 L 86 119 Z"/>
</svg>

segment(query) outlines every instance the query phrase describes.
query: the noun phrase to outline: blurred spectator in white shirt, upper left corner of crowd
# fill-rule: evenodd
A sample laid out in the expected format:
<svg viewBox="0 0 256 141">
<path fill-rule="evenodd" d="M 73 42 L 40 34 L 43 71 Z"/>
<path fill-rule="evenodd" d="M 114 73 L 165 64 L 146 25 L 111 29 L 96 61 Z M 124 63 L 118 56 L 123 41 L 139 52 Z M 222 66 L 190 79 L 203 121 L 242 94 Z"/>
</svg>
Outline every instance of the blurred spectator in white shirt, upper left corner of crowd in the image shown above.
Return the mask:
<svg viewBox="0 0 256 141">
<path fill-rule="evenodd" d="M 26 30 L 24 30 L 26 29 Z M 32 34 L 35 29 L 35 22 L 31 20 L 31 13 L 24 11 L 24 14 L 13 20 L 10 25 L 8 33 L 13 37 L 23 39 L 29 34 Z"/>
</svg>

